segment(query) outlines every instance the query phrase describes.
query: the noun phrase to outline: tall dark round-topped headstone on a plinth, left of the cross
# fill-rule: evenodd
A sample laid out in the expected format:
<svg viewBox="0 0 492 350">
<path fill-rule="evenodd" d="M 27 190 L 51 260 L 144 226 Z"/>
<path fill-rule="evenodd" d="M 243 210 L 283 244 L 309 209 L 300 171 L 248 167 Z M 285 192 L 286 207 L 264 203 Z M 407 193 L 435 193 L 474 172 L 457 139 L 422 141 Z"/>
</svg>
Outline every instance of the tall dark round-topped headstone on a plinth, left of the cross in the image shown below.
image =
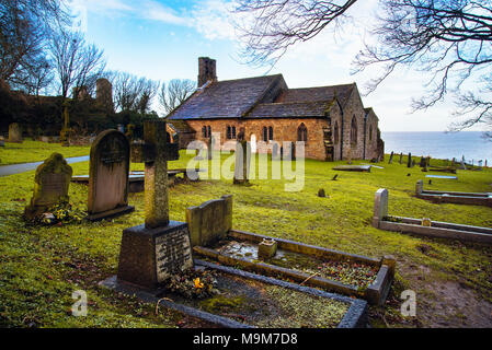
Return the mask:
<svg viewBox="0 0 492 350">
<path fill-rule="evenodd" d="M 89 165 L 90 221 L 134 211 L 128 206 L 129 142 L 123 132 L 106 130 L 91 145 Z"/>
</svg>

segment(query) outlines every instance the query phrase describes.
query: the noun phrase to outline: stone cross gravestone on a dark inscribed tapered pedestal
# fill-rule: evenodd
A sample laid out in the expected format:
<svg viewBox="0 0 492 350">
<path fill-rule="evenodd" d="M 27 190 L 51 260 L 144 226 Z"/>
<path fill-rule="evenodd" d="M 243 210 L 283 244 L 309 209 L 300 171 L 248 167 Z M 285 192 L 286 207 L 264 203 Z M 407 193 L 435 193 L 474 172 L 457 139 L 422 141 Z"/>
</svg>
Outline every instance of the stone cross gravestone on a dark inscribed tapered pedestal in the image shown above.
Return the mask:
<svg viewBox="0 0 492 350">
<path fill-rule="evenodd" d="M 178 143 L 167 140 L 165 121 L 144 122 L 145 224 L 125 229 L 117 280 L 156 288 L 194 266 L 188 226 L 169 220 L 168 161 L 179 159 Z"/>
</svg>

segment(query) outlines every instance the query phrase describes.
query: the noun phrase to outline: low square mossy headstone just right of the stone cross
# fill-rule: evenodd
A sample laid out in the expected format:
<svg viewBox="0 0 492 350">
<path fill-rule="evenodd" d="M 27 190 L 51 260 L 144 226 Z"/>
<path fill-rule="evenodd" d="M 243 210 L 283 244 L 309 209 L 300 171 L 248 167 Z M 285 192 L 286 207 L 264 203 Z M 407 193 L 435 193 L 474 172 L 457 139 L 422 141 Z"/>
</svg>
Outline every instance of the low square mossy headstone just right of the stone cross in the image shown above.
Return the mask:
<svg viewBox="0 0 492 350">
<path fill-rule="evenodd" d="M 225 238 L 232 229 L 232 195 L 186 208 L 192 246 L 208 246 Z"/>
</svg>

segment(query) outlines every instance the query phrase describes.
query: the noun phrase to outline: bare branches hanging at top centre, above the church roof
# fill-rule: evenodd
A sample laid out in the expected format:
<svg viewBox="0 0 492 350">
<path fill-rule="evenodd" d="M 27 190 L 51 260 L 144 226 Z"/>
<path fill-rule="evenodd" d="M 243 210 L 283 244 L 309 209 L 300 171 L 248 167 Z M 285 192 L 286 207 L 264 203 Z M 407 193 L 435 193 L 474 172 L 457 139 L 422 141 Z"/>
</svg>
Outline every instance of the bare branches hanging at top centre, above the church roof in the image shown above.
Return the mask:
<svg viewBox="0 0 492 350">
<path fill-rule="evenodd" d="M 236 28 L 253 66 L 274 66 L 298 42 L 339 25 L 356 0 L 238 0 Z"/>
</svg>

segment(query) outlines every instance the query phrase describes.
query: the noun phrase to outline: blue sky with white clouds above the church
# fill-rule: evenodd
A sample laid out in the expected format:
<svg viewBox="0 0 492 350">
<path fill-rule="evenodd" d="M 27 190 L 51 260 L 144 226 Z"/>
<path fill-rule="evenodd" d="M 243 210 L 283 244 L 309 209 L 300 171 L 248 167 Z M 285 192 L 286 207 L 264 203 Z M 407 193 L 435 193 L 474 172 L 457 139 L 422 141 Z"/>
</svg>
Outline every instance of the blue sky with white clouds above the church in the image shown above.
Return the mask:
<svg viewBox="0 0 492 350">
<path fill-rule="evenodd" d="M 311 88 L 357 83 L 376 77 L 374 69 L 351 74 L 353 60 L 370 40 L 370 23 L 377 0 L 357 2 L 341 31 L 321 32 L 294 46 L 277 65 L 253 68 L 240 56 L 239 38 L 231 24 L 230 0 L 67 0 L 77 14 L 77 25 L 85 39 L 104 50 L 110 70 L 127 71 L 152 80 L 196 81 L 198 57 L 217 60 L 218 80 L 282 73 L 289 88 Z M 373 107 L 381 131 L 445 131 L 456 108 L 451 98 L 427 110 L 411 113 L 412 97 L 425 93 L 428 77 L 399 69 L 379 88 L 363 96 Z M 155 103 L 157 112 L 162 109 Z M 481 130 L 474 127 L 470 130 Z"/>
</svg>

